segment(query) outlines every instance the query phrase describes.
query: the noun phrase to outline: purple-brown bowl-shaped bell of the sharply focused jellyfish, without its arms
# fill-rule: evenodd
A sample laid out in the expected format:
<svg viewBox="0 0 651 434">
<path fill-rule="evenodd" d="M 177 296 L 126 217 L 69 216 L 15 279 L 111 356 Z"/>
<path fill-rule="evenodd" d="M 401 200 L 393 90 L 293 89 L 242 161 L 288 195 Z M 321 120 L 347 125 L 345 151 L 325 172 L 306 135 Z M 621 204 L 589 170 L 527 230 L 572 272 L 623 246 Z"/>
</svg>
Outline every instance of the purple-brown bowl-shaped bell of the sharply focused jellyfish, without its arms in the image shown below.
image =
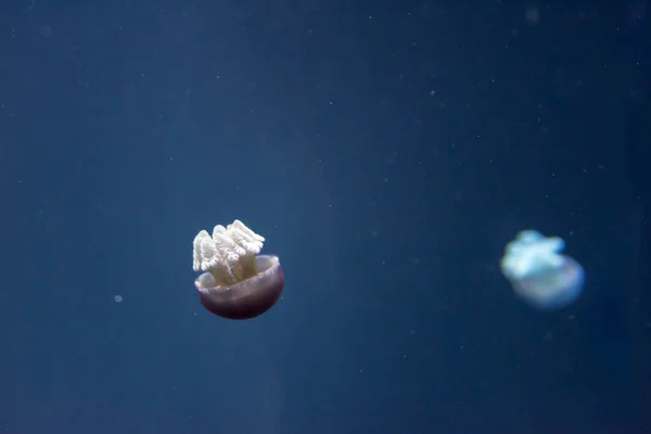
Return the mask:
<svg viewBox="0 0 651 434">
<path fill-rule="evenodd" d="M 195 281 L 201 304 L 212 314 L 228 319 L 250 319 L 263 315 L 280 298 L 284 275 L 278 256 L 256 256 L 258 275 L 230 286 L 220 286 L 204 272 Z"/>
</svg>

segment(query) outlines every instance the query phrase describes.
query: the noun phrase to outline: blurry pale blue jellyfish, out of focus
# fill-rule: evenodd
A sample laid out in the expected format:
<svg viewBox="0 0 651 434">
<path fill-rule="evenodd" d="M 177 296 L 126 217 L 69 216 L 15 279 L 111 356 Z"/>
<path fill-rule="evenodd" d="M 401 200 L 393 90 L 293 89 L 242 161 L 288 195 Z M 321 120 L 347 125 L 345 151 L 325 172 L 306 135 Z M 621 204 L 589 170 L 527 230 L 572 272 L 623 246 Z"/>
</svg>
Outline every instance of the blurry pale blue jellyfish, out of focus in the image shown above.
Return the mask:
<svg viewBox="0 0 651 434">
<path fill-rule="evenodd" d="M 501 258 L 502 275 L 516 295 L 540 310 L 557 310 L 580 296 L 585 272 L 572 257 L 562 255 L 565 242 L 524 230 L 509 242 Z"/>
</svg>

